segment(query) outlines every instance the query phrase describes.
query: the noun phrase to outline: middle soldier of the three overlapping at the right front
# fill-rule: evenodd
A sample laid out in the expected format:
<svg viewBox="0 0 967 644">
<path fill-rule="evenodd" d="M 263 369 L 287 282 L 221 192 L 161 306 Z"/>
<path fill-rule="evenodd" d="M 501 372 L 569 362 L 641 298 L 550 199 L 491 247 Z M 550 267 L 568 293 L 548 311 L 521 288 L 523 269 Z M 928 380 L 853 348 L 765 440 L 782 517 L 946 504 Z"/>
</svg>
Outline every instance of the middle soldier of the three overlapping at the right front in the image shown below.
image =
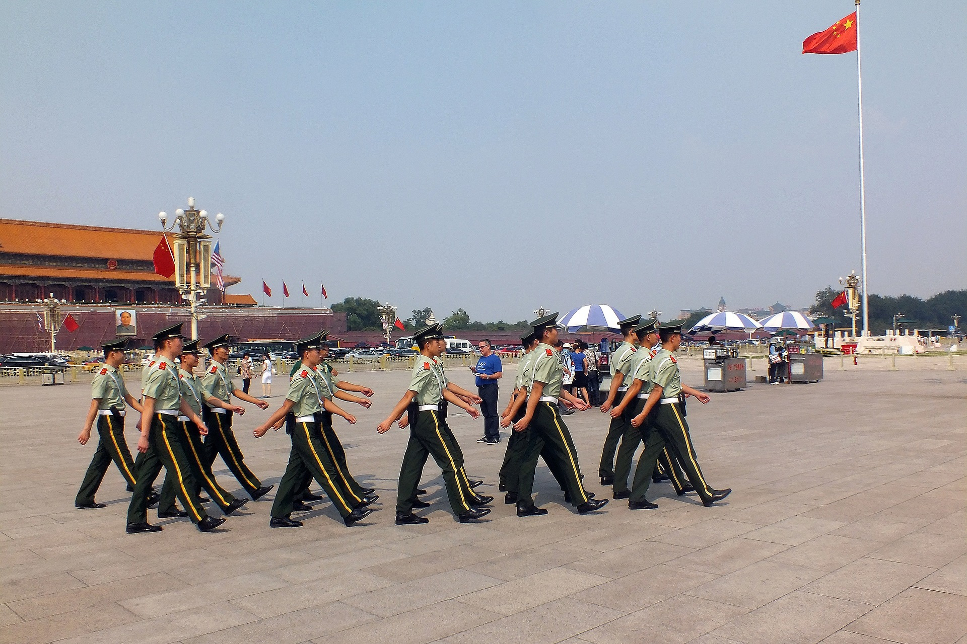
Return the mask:
<svg viewBox="0 0 967 644">
<path fill-rule="evenodd" d="M 611 409 L 612 417 L 620 415 L 625 420 L 625 434 L 621 437 L 621 446 L 618 448 L 618 458 L 614 465 L 614 498 L 628 498 L 628 476 L 631 472 L 631 462 L 634 460 L 634 452 L 644 439 L 642 428 L 631 425 L 631 418 L 638 415 L 645 406 L 645 400 L 652 390 L 651 363 L 655 353 L 660 349 L 659 331 L 654 320 L 649 320 L 639 324 L 634 328 L 634 334 L 638 340 L 638 350 L 635 351 L 631 359 L 628 381 L 628 391 L 618 405 Z M 659 467 L 668 472 L 675 492 L 681 496 L 689 491 L 694 491 L 685 476 L 678 460 L 668 455 L 668 450 L 664 449 L 659 454 Z M 657 473 L 657 472 L 656 472 Z M 658 482 L 653 475 L 652 480 Z"/>
</svg>

